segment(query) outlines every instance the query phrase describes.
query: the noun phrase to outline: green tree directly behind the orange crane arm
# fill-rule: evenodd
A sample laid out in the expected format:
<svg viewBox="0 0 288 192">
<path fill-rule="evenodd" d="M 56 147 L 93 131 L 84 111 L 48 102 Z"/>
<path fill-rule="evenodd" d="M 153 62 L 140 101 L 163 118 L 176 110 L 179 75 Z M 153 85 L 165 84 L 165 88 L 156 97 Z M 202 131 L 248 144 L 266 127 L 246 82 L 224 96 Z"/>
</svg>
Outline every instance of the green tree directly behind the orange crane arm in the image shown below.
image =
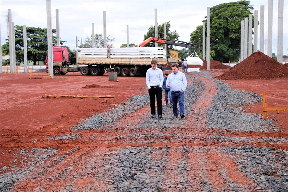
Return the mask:
<svg viewBox="0 0 288 192">
<path fill-rule="evenodd" d="M 179 34 L 175 31 L 170 31 L 170 21 L 166 23 L 166 32 L 167 32 L 167 39 L 169 40 L 178 40 Z M 155 36 L 155 26 L 150 26 L 146 35 L 144 35 L 144 40 L 154 37 Z M 158 24 L 158 38 L 164 39 L 164 23 L 159 25 Z M 144 41 L 143 40 L 143 41 Z M 147 47 L 155 47 L 155 43 L 146 44 Z M 164 44 L 158 44 L 158 47 L 164 47 Z M 172 45 L 168 45 L 167 47 L 173 48 Z M 167 57 L 170 57 L 170 52 L 167 49 Z"/>
</svg>

